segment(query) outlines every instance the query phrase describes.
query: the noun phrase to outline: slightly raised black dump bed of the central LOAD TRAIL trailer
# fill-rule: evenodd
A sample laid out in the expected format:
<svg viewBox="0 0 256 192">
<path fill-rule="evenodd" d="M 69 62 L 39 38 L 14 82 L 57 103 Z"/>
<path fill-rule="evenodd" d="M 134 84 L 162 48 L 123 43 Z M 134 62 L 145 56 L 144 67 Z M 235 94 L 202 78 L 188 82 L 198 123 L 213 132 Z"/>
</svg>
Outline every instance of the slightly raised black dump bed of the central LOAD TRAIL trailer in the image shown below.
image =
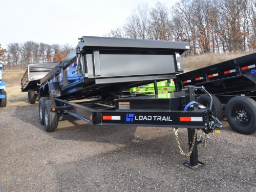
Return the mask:
<svg viewBox="0 0 256 192">
<path fill-rule="evenodd" d="M 188 49 L 187 42 L 83 36 L 77 48 L 41 79 L 40 95 L 48 91 L 61 98 L 90 97 L 102 91 L 123 94 L 172 79 L 183 71 L 181 54 Z M 55 82 L 58 89 L 49 90 L 48 82 Z"/>
</svg>

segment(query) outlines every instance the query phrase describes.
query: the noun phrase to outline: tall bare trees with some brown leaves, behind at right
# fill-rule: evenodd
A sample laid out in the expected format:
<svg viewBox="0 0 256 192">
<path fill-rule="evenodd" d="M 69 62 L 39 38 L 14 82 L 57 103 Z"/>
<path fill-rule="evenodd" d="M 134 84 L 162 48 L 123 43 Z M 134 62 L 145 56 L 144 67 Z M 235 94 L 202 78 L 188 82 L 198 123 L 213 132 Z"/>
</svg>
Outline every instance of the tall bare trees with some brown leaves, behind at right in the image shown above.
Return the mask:
<svg viewBox="0 0 256 192">
<path fill-rule="evenodd" d="M 256 49 L 255 0 L 180 0 L 139 5 L 124 25 L 105 36 L 187 41 L 187 54 Z"/>
</svg>

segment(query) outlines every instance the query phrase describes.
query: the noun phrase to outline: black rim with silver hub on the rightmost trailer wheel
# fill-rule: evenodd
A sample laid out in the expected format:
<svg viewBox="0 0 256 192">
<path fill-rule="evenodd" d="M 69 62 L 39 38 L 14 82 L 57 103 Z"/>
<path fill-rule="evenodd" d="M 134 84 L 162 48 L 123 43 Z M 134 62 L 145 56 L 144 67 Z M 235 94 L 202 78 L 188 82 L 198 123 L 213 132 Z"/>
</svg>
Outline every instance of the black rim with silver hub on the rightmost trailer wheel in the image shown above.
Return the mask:
<svg viewBox="0 0 256 192">
<path fill-rule="evenodd" d="M 250 124 L 250 113 L 244 106 L 239 106 L 232 111 L 232 120 L 242 126 Z"/>
</svg>

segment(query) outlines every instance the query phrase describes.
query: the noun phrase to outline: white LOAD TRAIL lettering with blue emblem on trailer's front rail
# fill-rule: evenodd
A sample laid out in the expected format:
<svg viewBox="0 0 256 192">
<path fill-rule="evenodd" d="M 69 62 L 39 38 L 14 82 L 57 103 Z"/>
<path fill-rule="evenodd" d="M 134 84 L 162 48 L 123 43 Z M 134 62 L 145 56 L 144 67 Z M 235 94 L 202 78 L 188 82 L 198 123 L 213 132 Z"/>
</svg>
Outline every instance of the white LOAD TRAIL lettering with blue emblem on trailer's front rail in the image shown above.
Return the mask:
<svg viewBox="0 0 256 192">
<path fill-rule="evenodd" d="M 126 114 L 126 122 L 137 121 L 173 121 L 170 116 L 151 116 L 151 115 L 134 115 L 133 113 Z"/>
</svg>

